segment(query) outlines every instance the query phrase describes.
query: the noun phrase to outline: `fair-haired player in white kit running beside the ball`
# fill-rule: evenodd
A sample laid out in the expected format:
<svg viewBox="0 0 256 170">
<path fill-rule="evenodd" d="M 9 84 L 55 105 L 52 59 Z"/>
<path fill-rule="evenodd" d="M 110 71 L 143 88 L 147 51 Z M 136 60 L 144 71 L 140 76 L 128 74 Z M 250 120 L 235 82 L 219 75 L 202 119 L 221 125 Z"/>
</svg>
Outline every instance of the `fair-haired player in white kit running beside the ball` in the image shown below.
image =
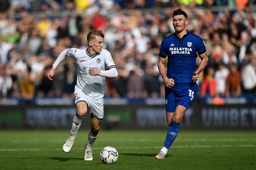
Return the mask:
<svg viewBox="0 0 256 170">
<path fill-rule="evenodd" d="M 87 112 L 90 113 L 90 131 L 84 145 L 84 160 L 93 160 L 92 144 L 100 130 L 104 118 L 105 77 L 116 78 L 118 72 L 110 52 L 103 47 L 104 34 L 93 29 L 87 35 L 87 49 L 65 49 L 58 56 L 47 74 L 52 81 L 54 70 L 66 57 L 74 58 L 77 63 L 77 82 L 74 90 L 77 113 L 74 116 L 70 137 L 63 145 L 63 151 L 71 150 L 76 135 Z"/>
</svg>

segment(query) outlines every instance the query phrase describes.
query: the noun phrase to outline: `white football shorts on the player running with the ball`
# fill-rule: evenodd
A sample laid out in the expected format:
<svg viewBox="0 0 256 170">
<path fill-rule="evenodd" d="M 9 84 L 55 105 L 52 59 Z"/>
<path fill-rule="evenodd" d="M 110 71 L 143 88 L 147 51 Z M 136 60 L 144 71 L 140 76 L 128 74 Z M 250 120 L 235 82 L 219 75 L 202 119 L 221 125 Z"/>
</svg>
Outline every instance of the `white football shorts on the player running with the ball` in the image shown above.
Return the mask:
<svg viewBox="0 0 256 170">
<path fill-rule="evenodd" d="M 78 88 L 77 88 L 78 89 Z M 84 101 L 88 105 L 88 112 L 102 120 L 104 118 L 104 102 L 102 100 L 94 100 L 92 97 L 85 95 L 83 91 L 77 90 L 74 92 L 75 95 L 75 104 L 80 101 Z"/>
</svg>

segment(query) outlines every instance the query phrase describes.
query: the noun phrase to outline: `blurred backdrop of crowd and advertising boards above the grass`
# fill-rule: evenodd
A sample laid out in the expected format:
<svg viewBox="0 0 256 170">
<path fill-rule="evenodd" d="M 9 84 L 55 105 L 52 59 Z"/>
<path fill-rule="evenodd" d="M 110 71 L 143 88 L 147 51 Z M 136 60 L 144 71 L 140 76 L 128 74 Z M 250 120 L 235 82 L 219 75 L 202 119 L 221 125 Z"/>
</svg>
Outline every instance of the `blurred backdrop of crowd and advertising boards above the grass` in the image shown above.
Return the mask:
<svg viewBox="0 0 256 170">
<path fill-rule="evenodd" d="M 209 55 L 182 127 L 255 130 L 255 0 L 1 0 L 0 129 L 70 128 L 76 63 L 63 61 L 54 81 L 47 72 L 63 49 L 88 47 L 90 29 L 104 31 L 118 69 L 117 79 L 106 79 L 102 127 L 166 129 L 157 59 L 177 8 Z"/>
</svg>

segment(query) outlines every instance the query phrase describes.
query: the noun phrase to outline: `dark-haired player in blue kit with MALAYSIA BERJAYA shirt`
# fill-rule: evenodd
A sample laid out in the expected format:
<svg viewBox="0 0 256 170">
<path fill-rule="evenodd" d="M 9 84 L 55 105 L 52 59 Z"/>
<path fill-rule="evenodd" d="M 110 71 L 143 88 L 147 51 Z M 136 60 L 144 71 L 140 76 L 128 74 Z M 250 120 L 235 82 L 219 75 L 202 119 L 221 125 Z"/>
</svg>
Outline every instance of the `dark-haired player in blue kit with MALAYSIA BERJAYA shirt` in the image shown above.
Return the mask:
<svg viewBox="0 0 256 170">
<path fill-rule="evenodd" d="M 165 158 L 166 153 L 179 133 L 180 123 L 189 105 L 198 94 L 198 75 L 208 63 L 204 40 L 186 29 L 188 15 L 184 10 L 173 12 L 173 27 L 175 33 L 167 36 L 161 42 L 159 73 L 165 84 L 165 109 L 169 130 L 164 146 L 156 158 Z M 200 63 L 196 68 L 196 58 Z M 167 60 L 167 69 L 165 66 Z"/>
</svg>

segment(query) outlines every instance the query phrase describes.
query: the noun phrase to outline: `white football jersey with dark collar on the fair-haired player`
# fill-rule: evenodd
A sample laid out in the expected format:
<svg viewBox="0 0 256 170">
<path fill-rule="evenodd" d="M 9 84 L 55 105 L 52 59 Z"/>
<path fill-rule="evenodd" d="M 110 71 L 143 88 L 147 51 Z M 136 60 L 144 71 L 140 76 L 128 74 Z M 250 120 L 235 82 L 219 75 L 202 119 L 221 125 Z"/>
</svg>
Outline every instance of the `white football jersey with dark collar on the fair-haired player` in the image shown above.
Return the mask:
<svg viewBox="0 0 256 170">
<path fill-rule="evenodd" d="M 91 55 L 87 49 L 71 48 L 66 56 L 76 59 L 77 82 L 75 87 L 81 89 L 85 95 L 97 100 L 104 97 L 105 77 L 90 75 L 90 68 L 109 70 L 116 68 L 113 58 L 108 50 L 102 49 L 100 54 Z"/>
</svg>

